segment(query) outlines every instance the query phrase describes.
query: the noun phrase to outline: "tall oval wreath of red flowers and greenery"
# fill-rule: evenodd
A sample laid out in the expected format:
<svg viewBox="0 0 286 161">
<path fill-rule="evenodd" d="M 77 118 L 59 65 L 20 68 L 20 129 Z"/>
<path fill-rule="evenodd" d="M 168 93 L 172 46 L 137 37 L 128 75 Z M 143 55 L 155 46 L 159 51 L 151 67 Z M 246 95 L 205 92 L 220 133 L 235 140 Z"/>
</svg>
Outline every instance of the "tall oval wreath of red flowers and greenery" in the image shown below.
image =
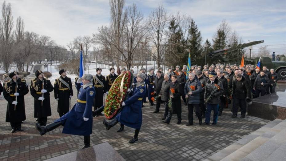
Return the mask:
<svg viewBox="0 0 286 161">
<path fill-rule="evenodd" d="M 105 100 L 104 115 L 113 119 L 121 110 L 121 103 L 126 99 L 127 90 L 133 82 L 133 74 L 123 71 L 113 82 Z"/>
</svg>

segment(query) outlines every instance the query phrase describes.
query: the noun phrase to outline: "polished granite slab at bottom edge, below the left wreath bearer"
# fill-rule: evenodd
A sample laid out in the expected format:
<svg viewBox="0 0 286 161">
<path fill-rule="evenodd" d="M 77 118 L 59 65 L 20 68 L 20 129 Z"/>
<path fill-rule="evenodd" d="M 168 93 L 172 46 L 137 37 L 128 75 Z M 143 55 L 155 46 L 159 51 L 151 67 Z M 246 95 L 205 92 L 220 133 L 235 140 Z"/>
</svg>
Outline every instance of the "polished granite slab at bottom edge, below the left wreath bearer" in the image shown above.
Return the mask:
<svg viewBox="0 0 286 161">
<path fill-rule="evenodd" d="M 107 142 L 48 159 L 47 161 L 125 161 Z"/>
</svg>

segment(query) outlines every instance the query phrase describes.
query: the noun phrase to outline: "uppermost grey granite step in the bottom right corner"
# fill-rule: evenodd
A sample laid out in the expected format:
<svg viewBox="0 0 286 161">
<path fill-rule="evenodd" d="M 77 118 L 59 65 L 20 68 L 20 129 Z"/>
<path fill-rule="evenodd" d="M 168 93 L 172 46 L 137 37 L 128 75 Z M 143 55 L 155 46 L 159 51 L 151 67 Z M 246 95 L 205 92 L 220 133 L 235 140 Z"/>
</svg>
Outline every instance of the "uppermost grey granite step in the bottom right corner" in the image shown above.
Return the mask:
<svg viewBox="0 0 286 161">
<path fill-rule="evenodd" d="M 260 147 L 256 148 L 248 154 L 243 161 L 256 161 L 256 160 L 285 160 L 286 158 L 286 120 L 280 123 L 280 128 L 283 128 L 279 133 L 269 139 Z M 279 127 L 278 127 L 279 128 Z M 279 153 L 279 154 L 278 154 Z"/>
</svg>

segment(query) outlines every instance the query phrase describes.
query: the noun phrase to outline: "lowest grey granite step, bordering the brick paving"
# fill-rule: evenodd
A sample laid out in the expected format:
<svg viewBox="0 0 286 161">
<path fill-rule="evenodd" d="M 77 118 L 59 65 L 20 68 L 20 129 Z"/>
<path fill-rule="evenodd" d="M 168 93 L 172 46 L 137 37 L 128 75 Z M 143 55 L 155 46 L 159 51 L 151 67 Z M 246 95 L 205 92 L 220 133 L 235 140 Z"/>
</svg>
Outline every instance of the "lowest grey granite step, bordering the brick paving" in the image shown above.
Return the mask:
<svg viewBox="0 0 286 161">
<path fill-rule="evenodd" d="M 251 134 L 245 136 L 244 138 L 238 140 L 237 142 L 233 143 L 232 145 L 222 149 L 221 151 L 217 152 L 216 154 L 210 156 L 208 159 L 205 159 L 205 161 L 219 161 L 219 160 L 224 159 L 225 157 L 227 157 L 228 155 L 237 151 L 238 149 L 240 149 L 241 147 L 243 147 L 247 143 L 249 143 L 252 140 L 256 139 L 257 137 L 263 135 L 265 132 L 273 131 L 273 130 L 276 131 L 277 128 L 281 128 L 280 126 L 278 126 L 278 124 L 281 123 L 282 121 L 283 120 L 275 119 L 275 120 L 267 123 L 265 126 L 257 129 L 256 131 L 254 131 Z"/>
</svg>

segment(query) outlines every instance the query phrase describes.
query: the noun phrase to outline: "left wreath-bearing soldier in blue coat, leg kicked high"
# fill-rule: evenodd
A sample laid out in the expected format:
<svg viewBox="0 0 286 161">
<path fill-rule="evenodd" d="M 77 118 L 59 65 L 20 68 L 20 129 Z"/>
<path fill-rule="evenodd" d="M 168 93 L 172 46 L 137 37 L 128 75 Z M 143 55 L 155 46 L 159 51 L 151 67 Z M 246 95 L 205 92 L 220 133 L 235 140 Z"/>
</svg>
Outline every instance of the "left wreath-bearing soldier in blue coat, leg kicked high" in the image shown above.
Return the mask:
<svg viewBox="0 0 286 161">
<path fill-rule="evenodd" d="M 81 148 L 84 149 L 90 147 L 90 134 L 92 133 L 93 123 L 92 105 L 95 90 L 92 86 L 93 76 L 91 74 L 83 74 L 82 78 L 79 79 L 83 86 L 79 90 L 77 103 L 72 110 L 47 126 L 41 126 L 39 123 L 36 123 L 35 127 L 42 136 L 46 132 L 62 125 L 64 126 L 62 133 L 84 136 L 84 146 Z"/>
</svg>

